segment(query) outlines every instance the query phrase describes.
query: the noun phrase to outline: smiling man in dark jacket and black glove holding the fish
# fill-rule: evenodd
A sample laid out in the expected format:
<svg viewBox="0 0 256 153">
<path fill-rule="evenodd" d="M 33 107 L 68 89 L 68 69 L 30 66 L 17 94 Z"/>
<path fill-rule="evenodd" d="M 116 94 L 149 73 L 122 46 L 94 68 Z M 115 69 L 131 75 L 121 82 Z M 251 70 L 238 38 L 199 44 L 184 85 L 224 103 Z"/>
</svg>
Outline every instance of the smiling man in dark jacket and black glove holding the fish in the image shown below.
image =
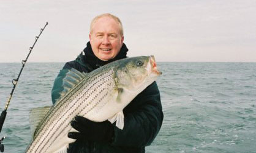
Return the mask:
<svg viewBox="0 0 256 153">
<path fill-rule="evenodd" d="M 63 90 L 62 79 L 67 69 L 90 73 L 102 65 L 127 57 L 122 23 L 114 15 L 96 16 L 91 22 L 89 40 L 85 55 L 81 53 L 76 60 L 67 62 L 56 77 L 51 94 L 53 104 Z M 152 143 L 164 118 L 156 82 L 138 94 L 123 112 L 126 126 L 122 130 L 109 121 L 95 123 L 81 116 L 75 117 L 71 126 L 79 132 L 68 134 L 69 138 L 76 140 L 69 144 L 68 152 L 145 152 L 145 146 Z"/>
</svg>

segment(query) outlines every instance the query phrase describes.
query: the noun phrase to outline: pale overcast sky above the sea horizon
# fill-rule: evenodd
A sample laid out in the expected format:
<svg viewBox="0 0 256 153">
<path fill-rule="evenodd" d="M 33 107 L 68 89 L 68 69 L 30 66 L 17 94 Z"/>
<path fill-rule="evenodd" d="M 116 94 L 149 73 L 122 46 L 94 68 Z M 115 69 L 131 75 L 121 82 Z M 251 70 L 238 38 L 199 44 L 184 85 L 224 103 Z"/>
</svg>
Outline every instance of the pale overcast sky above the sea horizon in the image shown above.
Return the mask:
<svg viewBox="0 0 256 153">
<path fill-rule="evenodd" d="M 0 62 L 74 60 L 89 24 L 112 13 L 124 26 L 129 57 L 157 62 L 256 62 L 256 0 L 0 0 Z"/>
</svg>

